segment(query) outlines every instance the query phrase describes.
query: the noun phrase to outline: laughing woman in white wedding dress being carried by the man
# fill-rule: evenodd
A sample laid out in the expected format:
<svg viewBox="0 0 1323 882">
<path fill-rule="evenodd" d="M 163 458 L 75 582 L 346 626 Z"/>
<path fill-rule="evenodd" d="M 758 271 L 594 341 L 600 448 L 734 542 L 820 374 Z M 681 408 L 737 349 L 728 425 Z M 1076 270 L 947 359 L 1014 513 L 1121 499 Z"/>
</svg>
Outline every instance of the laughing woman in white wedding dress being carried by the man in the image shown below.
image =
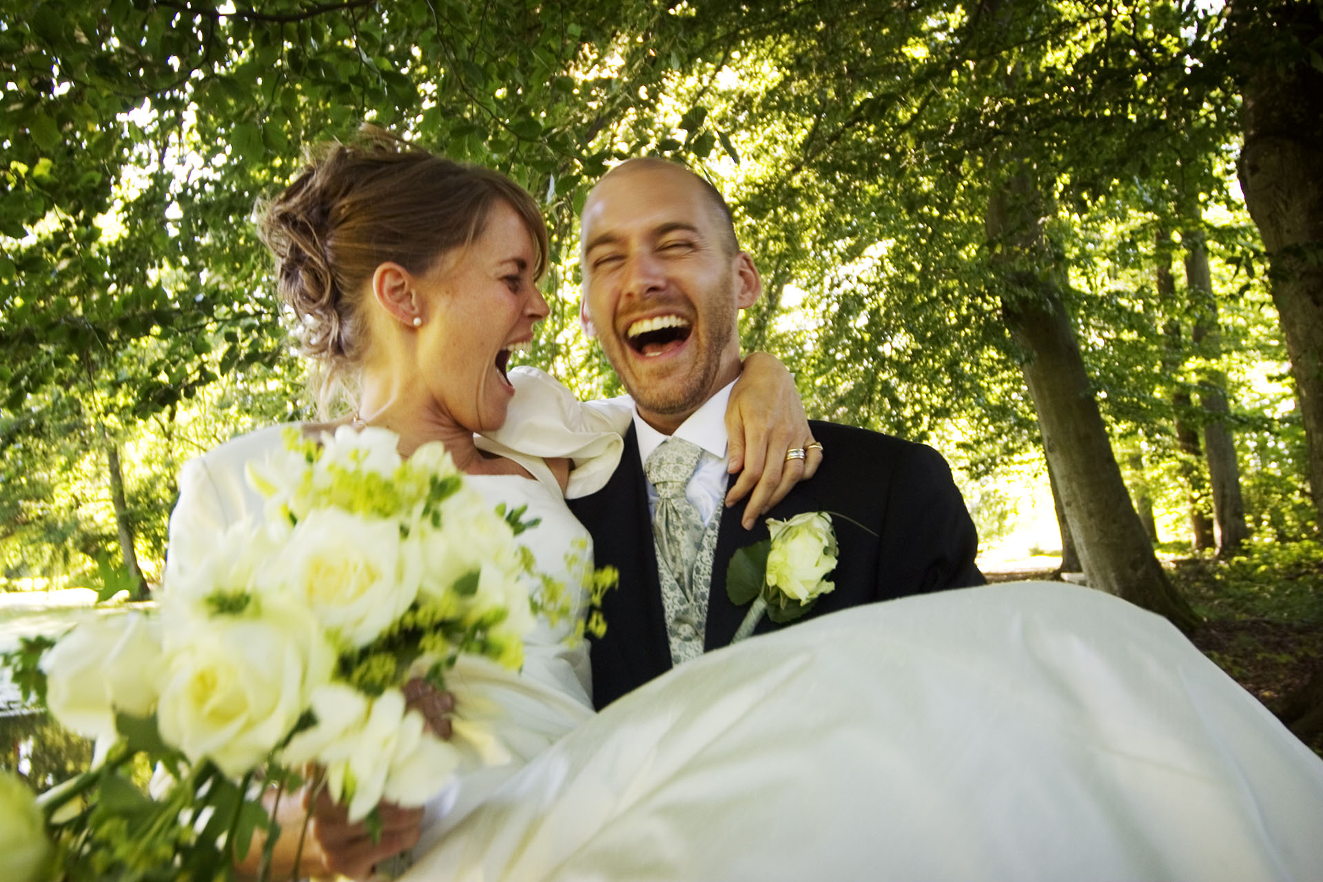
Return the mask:
<svg viewBox="0 0 1323 882">
<path fill-rule="evenodd" d="M 577 583 L 591 555 L 562 493 L 606 480 L 628 410 L 507 372 L 546 315 L 532 200 L 421 151 L 333 145 L 267 208 L 263 234 L 306 350 L 357 389 L 348 422 L 394 431 L 405 455 L 443 440 L 493 502 L 541 518 L 521 540 Z M 792 390 L 761 368 L 754 398 Z M 261 430 L 189 463 L 172 551 L 254 510 L 245 464 L 279 444 Z M 765 476 L 757 493 L 796 477 Z M 601 714 L 569 627 L 540 623 L 517 676 L 447 676 L 458 713 L 501 709 L 515 762 L 423 812 L 382 807 L 380 838 L 319 803 L 303 867 L 363 877 L 414 844 L 410 879 L 1304 879 L 1323 866 L 1323 763 L 1115 598 L 1027 583 L 837 612 L 708 653 Z M 287 805 L 278 822 L 292 828 L 310 809 Z"/>
</svg>

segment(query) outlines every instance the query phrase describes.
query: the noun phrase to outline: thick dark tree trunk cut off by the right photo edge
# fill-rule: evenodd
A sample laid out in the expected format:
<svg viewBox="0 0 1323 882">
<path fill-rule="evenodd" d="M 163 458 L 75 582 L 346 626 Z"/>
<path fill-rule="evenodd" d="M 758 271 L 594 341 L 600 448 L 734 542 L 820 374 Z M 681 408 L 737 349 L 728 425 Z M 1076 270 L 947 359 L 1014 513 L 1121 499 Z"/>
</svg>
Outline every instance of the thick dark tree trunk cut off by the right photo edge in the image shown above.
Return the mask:
<svg viewBox="0 0 1323 882">
<path fill-rule="evenodd" d="M 1241 190 L 1271 263 L 1323 533 L 1323 71 L 1310 65 L 1323 13 L 1312 3 L 1233 0 L 1229 33 L 1241 63 Z"/>
</svg>

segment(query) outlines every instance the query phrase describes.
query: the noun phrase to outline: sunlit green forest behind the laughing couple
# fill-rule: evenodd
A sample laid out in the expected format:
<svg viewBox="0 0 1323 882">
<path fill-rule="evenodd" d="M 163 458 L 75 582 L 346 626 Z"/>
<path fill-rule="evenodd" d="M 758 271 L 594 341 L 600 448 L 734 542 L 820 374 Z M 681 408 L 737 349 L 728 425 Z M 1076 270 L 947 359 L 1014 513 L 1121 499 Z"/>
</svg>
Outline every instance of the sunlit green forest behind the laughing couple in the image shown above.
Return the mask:
<svg viewBox="0 0 1323 882">
<path fill-rule="evenodd" d="M 181 463 L 312 415 L 254 206 L 369 120 L 538 198 L 586 397 L 577 210 L 692 164 L 810 415 L 938 447 L 986 546 L 1049 477 L 1061 569 L 1323 730 L 1323 0 L 0 9 L 4 588 L 146 592 Z"/>
</svg>

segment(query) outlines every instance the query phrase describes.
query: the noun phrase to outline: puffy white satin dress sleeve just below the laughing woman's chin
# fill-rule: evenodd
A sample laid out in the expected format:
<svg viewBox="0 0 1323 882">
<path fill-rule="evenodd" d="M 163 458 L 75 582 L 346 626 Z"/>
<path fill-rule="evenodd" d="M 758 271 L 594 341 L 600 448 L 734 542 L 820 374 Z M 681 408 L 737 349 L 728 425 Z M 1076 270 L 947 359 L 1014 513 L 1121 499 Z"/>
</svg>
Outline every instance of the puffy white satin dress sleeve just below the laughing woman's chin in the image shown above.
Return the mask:
<svg viewBox="0 0 1323 882">
<path fill-rule="evenodd" d="M 578 401 L 560 381 L 536 368 L 515 368 L 509 381 L 515 397 L 505 424 L 484 434 L 479 447 L 520 463 L 528 456 L 569 459 L 573 471 L 565 496 L 570 499 L 605 487 L 620 461 L 634 402 L 624 395 Z"/>
</svg>

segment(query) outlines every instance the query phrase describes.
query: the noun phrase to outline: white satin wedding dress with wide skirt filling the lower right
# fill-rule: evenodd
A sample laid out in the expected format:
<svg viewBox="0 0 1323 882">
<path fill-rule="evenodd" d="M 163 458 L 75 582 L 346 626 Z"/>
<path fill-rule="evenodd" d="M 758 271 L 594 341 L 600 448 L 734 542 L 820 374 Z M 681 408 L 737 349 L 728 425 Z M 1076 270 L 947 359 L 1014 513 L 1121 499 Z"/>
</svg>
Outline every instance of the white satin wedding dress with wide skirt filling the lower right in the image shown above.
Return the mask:
<svg viewBox="0 0 1323 882">
<path fill-rule="evenodd" d="M 610 459 L 601 428 L 589 446 Z M 564 447 L 546 438 L 531 452 Z M 191 463 L 172 545 L 242 514 L 242 464 L 278 443 L 263 430 Z M 521 541 L 573 575 L 585 533 L 552 487 L 472 480 L 528 504 L 541 524 Z M 1323 878 L 1323 760 L 1166 620 L 1101 592 L 848 610 L 599 714 L 562 636 L 542 623 L 519 676 L 451 674 L 499 707 L 513 760 L 433 800 L 410 882 Z"/>
</svg>

